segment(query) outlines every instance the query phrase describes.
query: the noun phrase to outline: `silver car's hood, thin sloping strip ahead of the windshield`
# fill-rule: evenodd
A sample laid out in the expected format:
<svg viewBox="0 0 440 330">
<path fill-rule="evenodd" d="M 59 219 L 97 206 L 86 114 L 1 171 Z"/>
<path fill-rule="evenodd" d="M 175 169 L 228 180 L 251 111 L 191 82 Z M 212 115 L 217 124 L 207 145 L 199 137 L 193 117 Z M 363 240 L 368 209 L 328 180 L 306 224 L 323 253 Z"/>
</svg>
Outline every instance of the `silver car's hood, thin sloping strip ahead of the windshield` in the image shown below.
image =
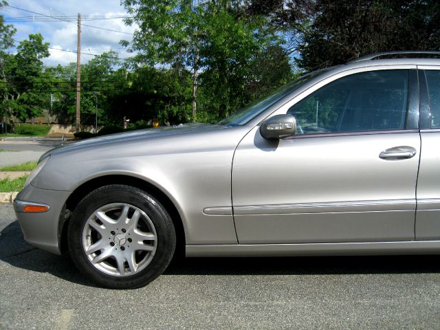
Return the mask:
<svg viewBox="0 0 440 330">
<path fill-rule="evenodd" d="M 110 135 L 104 135 L 101 137 L 92 137 L 87 140 L 77 141 L 70 144 L 64 144 L 53 148 L 50 151 L 44 153 L 39 162 L 50 155 L 56 153 L 65 153 L 69 151 L 78 150 L 81 148 L 91 148 L 96 146 L 102 146 L 104 144 L 113 143 L 124 143 L 129 144 L 130 142 L 139 140 L 149 140 L 151 138 L 165 137 L 169 135 L 188 135 L 197 132 L 206 131 L 218 131 L 219 129 L 225 129 L 227 126 L 214 125 L 214 124 L 201 124 L 201 123 L 190 123 L 190 124 L 179 124 L 177 126 L 163 126 L 154 129 L 140 129 L 136 131 L 129 131 L 123 133 L 115 133 Z"/>
</svg>

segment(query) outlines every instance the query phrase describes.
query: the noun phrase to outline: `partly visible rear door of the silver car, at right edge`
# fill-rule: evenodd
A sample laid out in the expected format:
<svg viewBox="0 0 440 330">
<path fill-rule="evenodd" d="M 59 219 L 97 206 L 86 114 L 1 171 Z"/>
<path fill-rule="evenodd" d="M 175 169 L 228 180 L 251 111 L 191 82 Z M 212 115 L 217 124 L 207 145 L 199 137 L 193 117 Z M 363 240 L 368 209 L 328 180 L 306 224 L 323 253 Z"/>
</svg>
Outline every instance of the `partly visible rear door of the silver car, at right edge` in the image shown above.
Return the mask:
<svg viewBox="0 0 440 330">
<path fill-rule="evenodd" d="M 417 241 L 440 239 L 440 66 L 419 67 L 421 155 L 417 180 Z"/>
</svg>

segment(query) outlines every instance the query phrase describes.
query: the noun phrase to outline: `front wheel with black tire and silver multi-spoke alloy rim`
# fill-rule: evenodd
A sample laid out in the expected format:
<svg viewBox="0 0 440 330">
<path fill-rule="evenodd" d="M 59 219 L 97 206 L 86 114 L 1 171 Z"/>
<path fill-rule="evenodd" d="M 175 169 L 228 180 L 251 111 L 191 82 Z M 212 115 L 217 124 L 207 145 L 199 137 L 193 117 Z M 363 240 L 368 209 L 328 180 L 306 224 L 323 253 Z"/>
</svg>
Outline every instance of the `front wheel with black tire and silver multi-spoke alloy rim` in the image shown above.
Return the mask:
<svg viewBox="0 0 440 330">
<path fill-rule="evenodd" d="M 139 188 L 114 184 L 78 203 L 68 241 L 76 267 L 91 281 L 110 289 L 135 289 L 164 272 L 176 234 L 159 201 Z"/>
</svg>

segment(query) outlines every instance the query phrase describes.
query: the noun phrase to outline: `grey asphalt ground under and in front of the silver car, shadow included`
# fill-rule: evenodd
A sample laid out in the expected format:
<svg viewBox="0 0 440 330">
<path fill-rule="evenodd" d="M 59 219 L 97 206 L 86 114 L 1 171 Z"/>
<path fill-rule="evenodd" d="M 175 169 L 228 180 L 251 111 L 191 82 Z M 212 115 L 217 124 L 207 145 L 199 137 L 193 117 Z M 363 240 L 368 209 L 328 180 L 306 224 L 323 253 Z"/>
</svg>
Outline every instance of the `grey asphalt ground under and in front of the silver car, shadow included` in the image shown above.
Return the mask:
<svg viewBox="0 0 440 330">
<path fill-rule="evenodd" d="M 439 329 L 439 256 L 184 259 L 141 289 L 87 281 L 0 204 L 0 329 Z"/>
</svg>

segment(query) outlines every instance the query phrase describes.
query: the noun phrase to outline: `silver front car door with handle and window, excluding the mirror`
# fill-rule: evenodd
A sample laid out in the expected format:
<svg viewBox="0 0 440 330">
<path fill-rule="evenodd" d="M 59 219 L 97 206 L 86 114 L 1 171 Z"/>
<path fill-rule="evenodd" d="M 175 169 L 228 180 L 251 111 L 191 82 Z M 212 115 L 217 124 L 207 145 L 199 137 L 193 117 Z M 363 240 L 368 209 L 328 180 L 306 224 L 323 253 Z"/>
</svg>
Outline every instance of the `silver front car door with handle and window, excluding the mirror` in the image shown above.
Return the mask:
<svg viewBox="0 0 440 330">
<path fill-rule="evenodd" d="M 254 127 L 232 165 L 239 243 L 413 240 L 414 68 L 342 72 L 294 96 L 272 113 L 295 115 L 292 137 L 265 140 Z"/>
</svg>

